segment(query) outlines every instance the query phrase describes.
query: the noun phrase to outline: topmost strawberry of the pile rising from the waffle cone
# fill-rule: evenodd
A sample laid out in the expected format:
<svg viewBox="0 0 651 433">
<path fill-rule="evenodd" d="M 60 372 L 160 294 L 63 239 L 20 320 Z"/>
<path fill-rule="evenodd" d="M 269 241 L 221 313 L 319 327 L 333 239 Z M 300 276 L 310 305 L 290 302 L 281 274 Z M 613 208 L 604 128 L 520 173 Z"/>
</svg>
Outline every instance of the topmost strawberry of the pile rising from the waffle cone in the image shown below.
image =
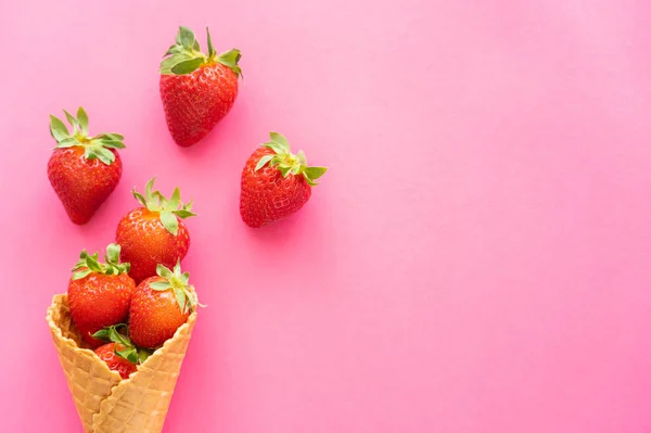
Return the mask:
<svg viewBox="0 0 651 433">
<path fill-rule="evenodd" d="M 146 184 L 144 196 L 133 190 L 133 196 L 144 207 L 129 212 L 118 224 L 116 242 L 122 245 L 122 259 L 131 264 L 129 275 L 140 282 L 156 275 L 156 265 L 173 267 L 190 249 L 190 233 L 179 218 L 194 216 L 181 202 L 181 192 L 174 190 L 167 200 L 152 191 L 154 179 Z"/>
</svg>

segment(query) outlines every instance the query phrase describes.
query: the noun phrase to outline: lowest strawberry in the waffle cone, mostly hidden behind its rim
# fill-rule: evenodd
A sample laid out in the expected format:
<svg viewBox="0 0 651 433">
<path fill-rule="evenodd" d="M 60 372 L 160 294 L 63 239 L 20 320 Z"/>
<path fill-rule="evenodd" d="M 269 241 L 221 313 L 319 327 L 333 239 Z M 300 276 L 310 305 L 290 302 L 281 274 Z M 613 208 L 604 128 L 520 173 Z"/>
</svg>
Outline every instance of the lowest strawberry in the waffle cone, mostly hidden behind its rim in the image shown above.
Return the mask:
<svg viewBox="0 0 651 433">
<path fill-rule="evenodd" d="M 149 357 L 148 351 L 138 348 L 131 343 L 128 335 L 122 334 L 118 329 L 127 329 L 125 323 L 104 328 L 92 336 L 97 340 L 110 342 L 95 348 L 94 353 L 111 370 L 117 371 L 123 379 L 138 371 L 138 366 Z"/>
</svg>

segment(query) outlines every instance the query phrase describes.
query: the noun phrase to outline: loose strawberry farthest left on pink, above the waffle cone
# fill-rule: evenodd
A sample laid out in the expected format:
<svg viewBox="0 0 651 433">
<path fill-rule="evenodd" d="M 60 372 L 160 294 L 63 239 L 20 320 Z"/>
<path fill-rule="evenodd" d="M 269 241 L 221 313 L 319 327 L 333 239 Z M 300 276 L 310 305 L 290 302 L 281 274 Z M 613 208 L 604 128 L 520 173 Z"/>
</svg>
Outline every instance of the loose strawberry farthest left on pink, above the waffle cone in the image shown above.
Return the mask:
<svg viewBox="0 0 651 433">
<path fill-rule="evenodd" d="M 77 117 L 64 110 L 73 133 L 59 118 L 50 116 L 50 132 L 56 149 L 48 163 L 48 178 L 65 212 L 75 224 L 90 220 L 111 195 L 122 177 L 122 160 L 116 149 L 124 149 L 119 133 L 88 135 L 88 116 L 79 107 Z"/>
</svg>

